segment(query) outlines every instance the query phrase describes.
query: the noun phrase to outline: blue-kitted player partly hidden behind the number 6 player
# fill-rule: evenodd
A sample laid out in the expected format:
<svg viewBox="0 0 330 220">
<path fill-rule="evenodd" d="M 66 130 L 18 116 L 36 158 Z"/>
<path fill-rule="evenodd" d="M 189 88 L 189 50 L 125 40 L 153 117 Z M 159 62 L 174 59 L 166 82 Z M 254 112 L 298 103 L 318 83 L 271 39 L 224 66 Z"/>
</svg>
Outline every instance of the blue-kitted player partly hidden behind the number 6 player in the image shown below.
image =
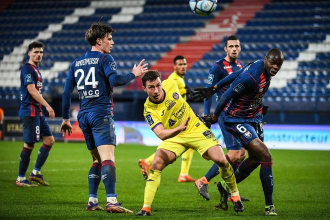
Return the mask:
<svg viewBox="0 0 330 220">
<path fill-rule="evenodd" d="M 226 52 L 226 56 L 217 60 L 210 67 L 206 86 L 214 85 L 228 74 L 231 74 L 233 71 L 239 70 L 243 67 L 242 62 L 237 59 L 240 50 L 241 47 L 239 39 L 234 35 L 228 36 L 224 43 L 224 51 Z M 217 100 L 220 98 L 222 93 L 228 89 L 228 87 L 229 85 L 224 86 L 216 92 Z M 211 104 L 212 98 L 208 98 L 207 100 L 204 99 L 204 114 L 210 113 Z M 224 143 L 228 150 L 225 157 L 235 171 L 239 163 L 243 161 L 245 157 L 245 149 L 242 148 L 241 143 L 233 134 L 225 130 L 223 125 L 223 111 L 221 111 L 217 122 L 221 128 Z M 194 186 L 198 189 L 199 194 L 206 200 L 209 200 L 208 182 L 217 174 L 219 174 L 219 168 L 214 163 L 205 175 L 197 179 L 194 183 Z M 241 200 L 246 201 L 243 197 L 241 197 Z"/>
</svg>

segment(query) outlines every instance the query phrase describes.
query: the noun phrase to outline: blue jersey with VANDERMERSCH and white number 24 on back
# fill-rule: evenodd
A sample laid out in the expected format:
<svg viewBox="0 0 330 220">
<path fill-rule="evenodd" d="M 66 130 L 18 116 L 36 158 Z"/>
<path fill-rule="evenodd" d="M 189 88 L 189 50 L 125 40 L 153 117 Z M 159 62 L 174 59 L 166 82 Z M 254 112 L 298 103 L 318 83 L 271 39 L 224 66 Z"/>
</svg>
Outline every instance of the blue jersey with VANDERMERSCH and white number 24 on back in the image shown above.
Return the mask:
<svg viewBox="0 0 330 220">
<path fill-rule="evenodd" d="M 113 114 L 113 87 L 108 78 L 117 73 L 113 57 L 107 53 L 87 51 L 75 59 L 66 83 L 76 86 L 79 94 L 79 113 L 97 111 Z M 68 109 L 63 112 L 68 118 Z"/>
</svg>

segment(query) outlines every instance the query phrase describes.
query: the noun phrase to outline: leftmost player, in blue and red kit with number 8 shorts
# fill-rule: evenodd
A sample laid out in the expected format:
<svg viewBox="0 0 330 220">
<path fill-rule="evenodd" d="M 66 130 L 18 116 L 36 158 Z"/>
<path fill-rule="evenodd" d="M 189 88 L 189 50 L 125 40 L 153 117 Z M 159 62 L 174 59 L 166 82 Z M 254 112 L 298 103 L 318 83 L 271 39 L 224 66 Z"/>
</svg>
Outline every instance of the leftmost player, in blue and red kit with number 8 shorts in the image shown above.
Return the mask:
<svg viewBox="0 0 330 220">
<path fill-rule="evenodd" d="M 23 65 L 20 71 L 19 117 L 23 122 L 24 146 L 19 156 L 16 185 L 37 186 L 25 178 L 25 172 L 30 161 L 30 154 L 34 148 L 34 143 L 39 142 L 40 138 L 43 144 L 38 151 L 38 156 L 36 157 L 35 165 L 29 175 L 29 179 L 42 185 L 49 185 L 43 179 L 40 170 L 55 140 L 48 122 L 42 114 L 41 105 L 46 108 L 50 118 L 53 118 L 55 113 L 47 101 L 41 96 L 42 76 L 39 72 L 38 65 L 43 56 L 43 44 L 38 41 L 30 43 L 28 45 L 28 56 L 28 62 Z"/>
</svg>

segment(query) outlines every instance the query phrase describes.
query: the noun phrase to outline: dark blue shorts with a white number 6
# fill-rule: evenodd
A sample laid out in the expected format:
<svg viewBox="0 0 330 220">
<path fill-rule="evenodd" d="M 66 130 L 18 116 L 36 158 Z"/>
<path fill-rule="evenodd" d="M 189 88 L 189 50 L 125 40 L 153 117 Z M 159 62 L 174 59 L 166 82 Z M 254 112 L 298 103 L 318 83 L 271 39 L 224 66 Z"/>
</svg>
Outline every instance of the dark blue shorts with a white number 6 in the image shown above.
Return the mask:
<svg viewBox="0 0 330 220">
<path fill-rule="evenodd" d="M 259 138 L 263 141 L 263 127 L 262 123 L 228 123 L 224 124 L 227 131 L 232 133 L 242 141 L 243 146 L 246 146 L 255 138 Z"/>
</svg>

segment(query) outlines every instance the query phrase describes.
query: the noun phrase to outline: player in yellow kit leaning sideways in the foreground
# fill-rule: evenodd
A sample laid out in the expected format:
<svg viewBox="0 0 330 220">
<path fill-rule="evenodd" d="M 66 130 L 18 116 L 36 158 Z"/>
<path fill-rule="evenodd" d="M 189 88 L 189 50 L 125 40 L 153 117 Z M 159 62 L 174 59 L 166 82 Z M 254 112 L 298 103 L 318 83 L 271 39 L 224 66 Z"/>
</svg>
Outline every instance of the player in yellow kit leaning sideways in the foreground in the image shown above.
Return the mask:
<svg viewBox="0 0 330 220">
<path fill-rule="evenodd" d="M 163 141 L 158 145 L 151 163 L 144 189 L 143 207 L 136 215 L 150 215 L 162 169 L 189 148 L 196 150 L 204 159 L 211 159 L 218 164 L 221 177 L 229 185 L 234 210 L 243 211 L 233 169 L 219 142 L 179 94 L 174 80 L 166 79 L 161 82 L 159 72 L 149 70 L 142 77 L 142 83 L 148 94 L 144 103 L 144 117 L 151 130 Z M 220 208 L 228 208 L 226 194 L 221 194 Z"/>
</svg>

